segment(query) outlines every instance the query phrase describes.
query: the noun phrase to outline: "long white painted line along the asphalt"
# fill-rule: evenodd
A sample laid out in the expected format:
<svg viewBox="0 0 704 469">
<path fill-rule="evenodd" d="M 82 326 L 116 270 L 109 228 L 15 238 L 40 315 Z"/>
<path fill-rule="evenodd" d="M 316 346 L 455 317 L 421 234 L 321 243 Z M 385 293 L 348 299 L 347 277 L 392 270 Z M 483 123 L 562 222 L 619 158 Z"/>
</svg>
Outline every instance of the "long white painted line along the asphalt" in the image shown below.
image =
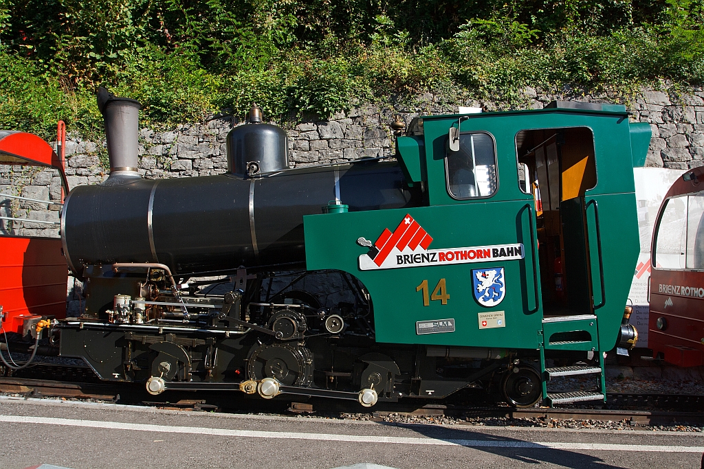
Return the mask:
<svg viewBox="0 0 704 469">
<path fill-rule="evenodd" d="M 369 435 L 337 435 L 334 433 L 267 432 L 256 430 L 228 430 L 225 428 L 175 427 L 146 423 L 102 422 L 99 420 L 76 420 L 73 418 L 4 416 L 0 422 L 34 423 L 37 425 L 66 425 L 70 427 L 105 428 L 107 430 L 130 430 L 142 432 L 189 433 L 194 435 L 217 435 L 222 437 L 315 439 L 327 442 L 422 444 L 434 446 L 470 446 L 477 448 L 538 448 L 593 451 L 650 451 L 660 453 L 704 453 L 704 446 L 664 446 L 649 444 L 605 444 L 526 442 L 520 440 L 482 439 L 437 439 L 416 437 L 382 437 Z"/>
</svg>

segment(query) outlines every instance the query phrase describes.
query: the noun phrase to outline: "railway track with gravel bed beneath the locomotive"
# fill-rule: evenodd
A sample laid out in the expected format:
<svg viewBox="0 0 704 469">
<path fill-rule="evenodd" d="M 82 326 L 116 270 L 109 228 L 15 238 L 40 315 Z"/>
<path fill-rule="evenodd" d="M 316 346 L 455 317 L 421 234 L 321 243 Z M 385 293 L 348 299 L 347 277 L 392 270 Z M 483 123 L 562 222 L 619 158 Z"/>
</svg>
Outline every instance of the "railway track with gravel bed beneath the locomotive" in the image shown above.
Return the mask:
<svg viewBox="0 0 704 469">
<path fill-rule="evenodd" d="M 73 381 L 43 380 L 32 378 L 0 378 L 0 392 L 22 394 L 25 397 L 60 397 L 65 399 L 85 399 L 103 402 L 119 402 L 140 406 L 155 406 L 161 409 L 181 409 L 191 411 L 230 411 L 265 413 L 318 413 L 337 415 L 349 411 L 339 403 L 321 399 L 306 403 L 284 401 L 261 401 L 238 395 L 233 399 L 223 393 L 174 392 L 163 396 L 163 400 L 146 394 L 142 385 L 130 383 L 78 383 Z M 169 400 L 165 400 L 165 399 Z M 288 409 L 286 408 L 288 406 Z M 366 410 L 366 409 L 365 409 Z M 684 394 L 646 394 L 612 392 L 603 406 L 579 409 L 529 408 L 515 409 L 508 406 L 467 404 L 426 404 L 409 406 L 403 404 L 379 403 L 372 409 L 370 420 L 383 421 L 389 416 L 408 417 L 451 417 L 457 423 L 470 418 L 543 419 L 551 420 L 601 420 L 627 421 L 632 426 L 639 425 L 704 425 L 704 396 Z M 549 426 L 549 425 L 548 425 Z"/>
</svg>

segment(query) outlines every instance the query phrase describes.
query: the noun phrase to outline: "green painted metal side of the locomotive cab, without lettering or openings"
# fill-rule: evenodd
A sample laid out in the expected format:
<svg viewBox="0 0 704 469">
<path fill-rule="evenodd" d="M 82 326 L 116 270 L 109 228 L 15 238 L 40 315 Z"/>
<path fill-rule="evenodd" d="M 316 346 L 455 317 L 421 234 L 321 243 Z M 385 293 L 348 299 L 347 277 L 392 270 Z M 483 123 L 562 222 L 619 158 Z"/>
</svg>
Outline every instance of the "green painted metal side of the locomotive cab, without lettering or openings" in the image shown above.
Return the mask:
<svg viewBox="0 0 704 469">
<path fill-rule="evenodd" d="M 611 349 L 617 339 L 639 252 L 631 129 L 625 111 L 614 109 L 610 112 L 545 109 L 465 116 L 462 132 L 489 132 L 496 141 L 498 190 L 491 197 L 479 200 L 455 200 L 446 189 L 444 157 L 448 129 L 457 126 L 459 116 L 424 117 L 425 136 L 399 139 L 399 150 L 406 177 L 413 183 L 420 182 L 419 179 L 425 182 L 429 206 L 304 217 L 308 270 L 339 269 L 360 279 L 371 295 L 377 342 L 543 347 L 541 286 L 539 275 L 534 274 L 540 269 L 534 254 L 535 204 L 532 195 L 523 193 L 518 185 L 515 137 L 524 129 L 589 127 L 594 138 L 597 184 L 586 191 L 584 203 L 593 313 L 598 321 L 588 328 L 598 327 L 598 334 L 589 343 L 574 347 Z M 358 258 L 368 249 L 357 243 L 358 238 L 374 243 L 384 229 L 394 231 L 407 214 L 432 236 L 429 250 L 523 245 L 524 258 L 361 270 Z M 474 299 L 472 269 L 490 267 L 503 267 L 506 291 L 500 304 L 487 308 Z M 442 279 L 445 289 L 437 290 L 436 298 L 449 295 L 446 304 L 441 299 L 431 299 L 425 306 L 424 281 L 428 294 L 432 295 Z M 486 316 L 480 314 L 488 313 L 496 314 L 490 317 L 501 318 L 501 324 L 495 321 L 497 327 L 482 328 Z M 418 321 L 448 319 L 454 321 L 453 332 L 417 333 Z M 574 330 L 571 322 L 553 324 L 550 332 L 561 327 L 565 331 Z M 443 325 L 447 323 L 440 324 Z"/>
</svg>

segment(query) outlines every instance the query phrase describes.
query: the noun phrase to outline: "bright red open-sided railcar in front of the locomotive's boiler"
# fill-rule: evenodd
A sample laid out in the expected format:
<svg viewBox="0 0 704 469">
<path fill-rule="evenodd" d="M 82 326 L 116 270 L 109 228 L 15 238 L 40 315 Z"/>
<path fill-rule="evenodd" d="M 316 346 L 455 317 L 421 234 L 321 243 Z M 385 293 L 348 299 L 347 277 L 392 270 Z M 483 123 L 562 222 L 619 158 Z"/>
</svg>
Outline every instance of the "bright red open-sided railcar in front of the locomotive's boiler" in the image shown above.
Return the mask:
<svg viewBox="0 0 704 469">
<path fill-rule="evenodd" d="M 0 165 L 50 167 L 61 176 L 62 199 L 68 193 L 64 172 L 63 122 L 58 125 L 58 154 L 36 135 L 19 131 L 0 131 Z M 8 193 L 1 200 L 29 200 L 32 198 Z M 63 200 L 61 200 L 63 202 Z M 55 203 L 46 200 L 46 203 Z M 32 224 L 58 222 L 0 217 L 3 221 Z M 4 332 L 27 335 L 42 316 L 57 319 L 66 314 L 66 281 L 68 267 L 61 252 L 61 238 L 37 236 L 0 236 L 0 324 Z"/>
</svg>

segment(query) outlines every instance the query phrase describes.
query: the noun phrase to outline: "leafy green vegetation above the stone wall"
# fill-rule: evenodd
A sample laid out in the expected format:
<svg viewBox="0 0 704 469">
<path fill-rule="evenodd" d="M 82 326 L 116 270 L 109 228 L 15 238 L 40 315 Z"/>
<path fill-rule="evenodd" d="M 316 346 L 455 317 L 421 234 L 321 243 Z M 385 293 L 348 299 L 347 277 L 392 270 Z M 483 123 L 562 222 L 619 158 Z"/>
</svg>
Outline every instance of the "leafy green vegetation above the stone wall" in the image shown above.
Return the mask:
<svg viewBox="0 0 704 469">
<path fill-rule="evenodd" d="M 703 24 L 704 0 L 0 0 L 0 127 L 92 133 L 100 84 L 152 125 L 697 85 Z"/>
</svg>

